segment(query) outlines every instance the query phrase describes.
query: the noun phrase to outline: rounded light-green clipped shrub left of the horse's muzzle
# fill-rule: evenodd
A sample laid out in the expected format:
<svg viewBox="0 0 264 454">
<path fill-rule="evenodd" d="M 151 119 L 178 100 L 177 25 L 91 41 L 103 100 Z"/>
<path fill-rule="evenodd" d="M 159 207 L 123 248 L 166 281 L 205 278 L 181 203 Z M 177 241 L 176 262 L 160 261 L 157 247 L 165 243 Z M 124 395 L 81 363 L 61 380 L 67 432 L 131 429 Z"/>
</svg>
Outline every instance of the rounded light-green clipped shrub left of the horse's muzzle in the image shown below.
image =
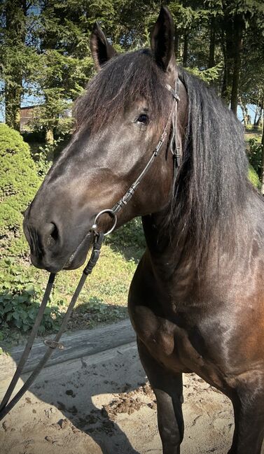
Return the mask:
<svg viewBox="0 0 264 454">
<path fill-rule="evenodd" d="M 22 212 L 34 198 L 41 180 L 29 146 L 17 131 L 0 124 L 0 251 L 18 257 L 28 250 L 22 234 Z"/>
</svg>

